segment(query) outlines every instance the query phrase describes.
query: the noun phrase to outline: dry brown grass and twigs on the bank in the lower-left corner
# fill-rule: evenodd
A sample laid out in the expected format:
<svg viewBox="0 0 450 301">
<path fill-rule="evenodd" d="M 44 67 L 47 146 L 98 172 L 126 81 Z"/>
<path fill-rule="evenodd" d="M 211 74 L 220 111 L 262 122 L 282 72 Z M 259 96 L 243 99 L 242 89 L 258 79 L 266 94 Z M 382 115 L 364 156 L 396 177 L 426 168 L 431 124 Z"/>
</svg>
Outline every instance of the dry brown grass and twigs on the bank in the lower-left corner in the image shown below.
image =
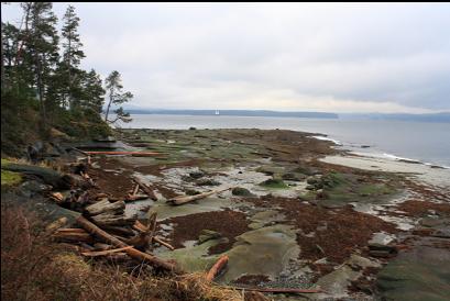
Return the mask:
<svg viewBox="0 0 450 301">
<path fill-rule="evenodd" d="M 243 300 L 201 274 L 154 276 L 138 265 L 86 263 L 53 243 L 34 214 L 1 205 L 2 300 Z"/>
</svg>

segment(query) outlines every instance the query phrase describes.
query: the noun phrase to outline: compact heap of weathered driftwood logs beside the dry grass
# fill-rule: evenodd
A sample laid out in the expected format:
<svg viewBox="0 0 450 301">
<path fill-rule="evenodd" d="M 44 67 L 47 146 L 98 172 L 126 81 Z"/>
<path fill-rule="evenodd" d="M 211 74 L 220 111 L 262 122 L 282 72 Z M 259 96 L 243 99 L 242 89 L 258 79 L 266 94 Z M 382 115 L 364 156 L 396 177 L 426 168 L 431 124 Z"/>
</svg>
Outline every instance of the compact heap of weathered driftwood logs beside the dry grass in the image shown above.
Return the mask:
<svg viewBox="0 0 450 301">
<path fill-rule="evenodd" d="M 177 267 L 151 254 L 153 245 L 174 249 L 172 245 L 156 236 L 156 215 L 147 225 L 135 216 L 124 215 L 125 202 L 111 202 L 100 198 L 84 208 L 77 219 L 79 227 L 58 228 L 53 237 L 58 242 L 77 245 L 87 257 L 105 257 L 110 260 L 136 259 L 156 268 L 177 272 Z"/>
</svg>

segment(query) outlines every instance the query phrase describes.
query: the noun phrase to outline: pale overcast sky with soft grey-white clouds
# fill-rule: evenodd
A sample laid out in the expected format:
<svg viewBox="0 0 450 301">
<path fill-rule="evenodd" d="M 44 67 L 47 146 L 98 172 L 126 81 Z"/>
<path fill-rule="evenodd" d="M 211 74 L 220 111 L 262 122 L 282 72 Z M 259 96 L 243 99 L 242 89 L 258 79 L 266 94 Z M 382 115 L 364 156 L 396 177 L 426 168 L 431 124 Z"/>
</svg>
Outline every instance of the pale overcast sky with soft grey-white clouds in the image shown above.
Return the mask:
<svg viewBox="0 0 450 301">
<path fill-rule="evenodd" d="M 450 3 L 70 4 L 83 67 L 121 73 L 132 107 L 450 111 Z"/>
</svg>

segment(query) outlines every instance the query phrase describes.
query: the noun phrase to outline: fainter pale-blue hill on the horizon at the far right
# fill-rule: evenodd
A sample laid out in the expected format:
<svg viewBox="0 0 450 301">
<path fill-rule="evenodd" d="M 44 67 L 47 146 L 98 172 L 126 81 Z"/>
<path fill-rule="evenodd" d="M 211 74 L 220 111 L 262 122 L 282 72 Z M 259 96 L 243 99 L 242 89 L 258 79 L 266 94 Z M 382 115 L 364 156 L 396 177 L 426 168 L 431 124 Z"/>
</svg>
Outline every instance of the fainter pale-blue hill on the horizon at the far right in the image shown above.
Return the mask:
<svg viewBox="0 0 450 301">
<path fill-rule="evenodd" d="M 406 113 L 349 113 L 339 114 L 340 119 L 363 119 L 363 120 L 397 120 L 397 121 L 416 121 L 416 122 L 450 122 L 450 112 L 432 114 L 406 114 Z"/>
</svg>

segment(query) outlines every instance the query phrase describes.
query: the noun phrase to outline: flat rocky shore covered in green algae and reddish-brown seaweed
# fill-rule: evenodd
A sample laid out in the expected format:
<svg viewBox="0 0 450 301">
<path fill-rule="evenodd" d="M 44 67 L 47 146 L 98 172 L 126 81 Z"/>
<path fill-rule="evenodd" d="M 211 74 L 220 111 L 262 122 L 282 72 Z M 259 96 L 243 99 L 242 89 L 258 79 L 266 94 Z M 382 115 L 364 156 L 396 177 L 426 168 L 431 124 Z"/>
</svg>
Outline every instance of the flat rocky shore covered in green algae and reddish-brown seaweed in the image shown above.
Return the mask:
<svg viewBox="0 0 450 301">
<path fill-rule="evenodd" d="M 92 156 L 85 172 L 96 185 L 88 196 L 125 200 L 138 177 L 155 199 L 127 202 L 124 214 L 142 222 L 156 214 L 156 235 L 175 247 L 155 247 L 152 254 L 190 272 L 208 270 L 227 255 L 228 267 L 216 278 L 222 285 L 321 290 L 271 294 L 275 300 L 397 300 L 402 294 L 444 300 L 449 171 L 375 163 L 312 135 L 117 130 L 120 143 L 83 149 L 161 155 Z M 179 207 L 166 202 L 223 188 L 230 189 Z"/>
</svg>

